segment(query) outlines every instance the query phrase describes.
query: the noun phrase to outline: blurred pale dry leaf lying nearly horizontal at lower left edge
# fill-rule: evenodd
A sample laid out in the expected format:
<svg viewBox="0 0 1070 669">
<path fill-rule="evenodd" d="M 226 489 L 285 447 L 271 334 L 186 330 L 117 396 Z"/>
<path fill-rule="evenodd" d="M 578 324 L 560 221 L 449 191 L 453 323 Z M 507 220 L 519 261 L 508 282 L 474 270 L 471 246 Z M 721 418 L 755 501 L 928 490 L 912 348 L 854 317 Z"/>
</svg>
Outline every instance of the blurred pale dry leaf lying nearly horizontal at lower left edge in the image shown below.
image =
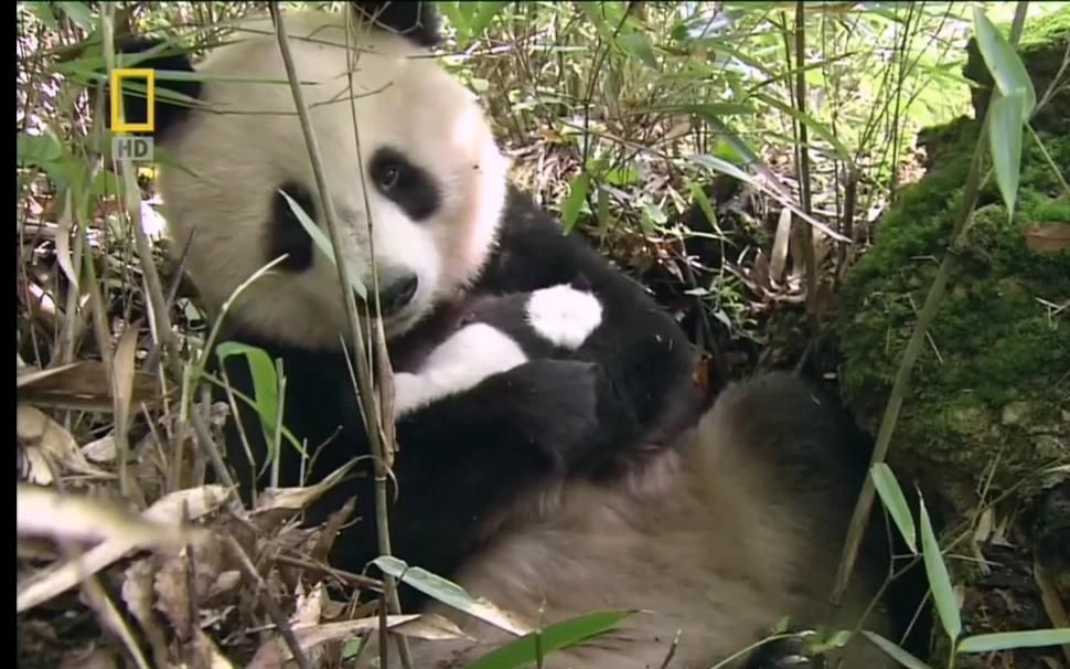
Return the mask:
<svg viewBox="0 0 1070 669">
<path fill-rule="evenodd" d="M 117 503 L 52 488 L 19 484 L 18 532 L 61 541 L 119 541 L 145 548 L 173 549 L 199 532 L 146 520 Z"/>
</svg>

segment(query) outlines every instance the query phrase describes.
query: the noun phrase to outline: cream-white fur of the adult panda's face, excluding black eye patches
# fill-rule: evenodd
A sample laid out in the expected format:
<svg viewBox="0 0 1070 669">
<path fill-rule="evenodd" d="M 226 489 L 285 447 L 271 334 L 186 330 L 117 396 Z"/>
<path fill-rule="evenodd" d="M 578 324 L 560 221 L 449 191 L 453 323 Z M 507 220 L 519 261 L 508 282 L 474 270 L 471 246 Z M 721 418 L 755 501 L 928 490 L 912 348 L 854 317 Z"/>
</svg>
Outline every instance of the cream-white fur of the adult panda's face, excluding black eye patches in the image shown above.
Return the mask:
<svg viewBox="0 0 1070 669">
<path fill-rule="evenodd" d="M 354 31 L 351 43 L 361 51 L 350 99 L 344 15 L 297 12 L 285 20 L 350 266 L 372 286 L 371 213 L 378 267 L 419 277 L 413 302 L 386 323 L 393 336 L 482 267 L 505 200 L 507 161 L 474 96 L 424 50 L 396 35 Z M 191 116 L 165 145 L 189 171 L 167 170 L 161 179 L 175 249 L 196 230 L 188 267 L 213 311 L 267 263 L 264 225 L 275 189 L 292 180 L 315 191 L 292 94 L 275 83 L 286 73 L 270 19 L 250 21 L 233 39 L 197 67 L 210 77 L 202 97 L 215 113 Z M 271 82 L 211 81 L 215 76 Z M 365 166 L 388 145 L 434 176 L 442 203 L 429 221 L 408 220 L 374 188 L 362 187 L 354 117 Z M 259 278 L 229 314 L 289 343 L 335 347 L 347 331 L 338 286 L 338 270 L 318 253 L 309 272 Z"/>
</svg>

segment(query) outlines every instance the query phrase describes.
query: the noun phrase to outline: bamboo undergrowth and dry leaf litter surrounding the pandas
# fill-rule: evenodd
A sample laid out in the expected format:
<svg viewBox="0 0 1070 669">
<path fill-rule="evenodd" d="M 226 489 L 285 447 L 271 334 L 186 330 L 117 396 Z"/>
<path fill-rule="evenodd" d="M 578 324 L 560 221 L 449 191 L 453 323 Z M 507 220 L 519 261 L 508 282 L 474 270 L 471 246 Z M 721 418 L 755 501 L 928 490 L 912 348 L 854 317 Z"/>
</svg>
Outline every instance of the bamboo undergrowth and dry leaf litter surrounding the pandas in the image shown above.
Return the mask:
<svg viewBox="0 0 1070 669">
<path fill-rule="evenodd" d="M 1016 224 L 1070 222 L 1070 145 L 1064 136 L 1031 142 L 1021 131 L 1031 107 L 1018 125 L 1007 120 L 1007 104 L 991 114 L 1004 114 L 992 123 L 1025 137 L 1020 174 L 1014 147 L 992 140 L 996 167 L 980 183 L 974 149 L 987 147 L 989 136 L 974 128 L 955 139 L 955 157 L 930 173 L 935 182 L 909 188 L 927 171 L 919 131 L 971 113 L 971 83 L 962 75 L 966 40 L 978 24 L 1013 34 L 1018 4 L 984 4 L 992 23 L 965 3 L 439 4 L 451 38 L 443 61 L 486 100 L 517 183 L 678 316 L 707 353 L 704 374 L 713 386 L 756 367 L 816 357 L 841 300 L 869 300 L 869 321 L 839 326 L 839 334 L 867 329 L 845 347 L 860 370 L 845 385 L 848 394 L 873 384 L 892 389 L 895 401 L 903 365 L 910 378 L 910 363 L 901 363 L 913 346 L 910 328 L 940 273 L 939 258 L 909 267 L 901 258 L 931 254 L 959 229 L 971 174 L 983 206 L 970 234 L 984 243 L 961 252 L 964 264 L 982 274 L 989 265 L 1013 266 L 1041 293 L 1050 289 L 1042 297 L 1053 311 L 1066 311 L 1058 300 L 1067 296 L 1052 277 L 1070 276 L 1067 256 L 1027 253 L 1017 237 L 1001 236 L 1008 211 Z M 1052 14 L 1059 4 L 1029 3 L 1019 28 L 1023 19 L 1064 21 L 1064 11 Z M 101 35 L 161 31 L 200 52 L 225 39 L 229 21 L 265 7 L 18 3 L 20 481 L 41 486 L 20 488 L 19 498 L 21 666 L 90 657 L 106 666 L 119 666 L 119 657 L 140 667 L 269 667 L 289 658 L 340 666 L 378 623 L 374 607 L 327 594 L 327 584 L 382 588 L 376 577 L 325 564 L 334 520 L 317 529 L 292 522 L 321 487 L 272 491 L 255 509 L 242 509 L 222 487 L 204 485 L 206 472 L 221 468 L 216 444 L 232 408 L 206 400 L 213 380 L 203 373 L 205 344 L 213 333 L 182 282 L 181 263 L 167 252 L 153 166 L 120 168 L 101 127 L 101 100 L 88 89 L 104 83 L 98 72 L 118 64 Z M 1014 57 L 1013 40 L 989 41 L 986 57 Z M 1005 77 L 1001 71 L 1002 97 L 1025 95 L 1004 88 L 1020 77 Z M 1034 104 L 1042 93 L 1035 92 Z M 875 240 L 880 244 L 870 253 Z M 877 290 L 874 282 L 892 285 Z M 991 385 L 971 389 L 976 397 L 1008 402 L 1004 393 L 1020 376 L 1047 370 L 1059 380 L 1070 371 L 1066 316 L 1059 328 L 1023 317 L 1027 307 L 1034 314 L 1037 286 L 978 286 L 1007 296 L 998 312 L 971 317 L 969 288 L 932 307 L 950 315 L 935 325 L 937 340 L 967 336 L 969 346 L 953 354 L 989 353 L 976 361 L 992 372 Z M 972 328 L 971 318 L 1005 322 L 1005 343 L 948 331 Z M 877 339 L 890 328 L 907 331 L 888 348 Z M 278 405 L 285 376 L 272 362 L 255 350 L 231 353 L 248 355 L 264 389 L 245 400 L 265 416 L 285 415 Z M 956 389 L 959 378 L 935 369 L 921 364 L 913 378 L 922 396 Z M 948 443 L 961 436 L 953 421 L 923 417 L 907 434 Z M 885 448 L 891 426 L 895 416 L 881 425 Z M 1070 646 L 1066 635 L 1047 631 L 957 638 L 955 594 L 925 507 L 907 508 L 890 470 L 876 468 L 873 480 L 895 531 L 924 561 L 952 640 L 935 661 L 951 657 L 953 665 L 956 652 L 1016 644 Z M 53 490 L 87 497 L 42 492 Z M 339 523 L 352 509 L 341 511 Z M 195 523 L 175 530 L 193 520 L 225 540 L 205 539 Z M 194 542 L 204 543 L 194 551 Z M 459 607 L 474 606 L 431 575 L 389 559 L 377 566 L 425 578 L 424 587 Z M 543 630 L 553 641 L 541 651 L 617 620 L 599 614 Z M 441 620 L 393 624 L 408 625 L 413 635 L 452 634 Z M 822 637 L 815 646 L 839 640 Z M 925 666 L 900 648 L 901 639 L 874 643 L 908 666 Z M 481 666 L 521 666 L 515 661 L 505 655 Z"/>
</svg>

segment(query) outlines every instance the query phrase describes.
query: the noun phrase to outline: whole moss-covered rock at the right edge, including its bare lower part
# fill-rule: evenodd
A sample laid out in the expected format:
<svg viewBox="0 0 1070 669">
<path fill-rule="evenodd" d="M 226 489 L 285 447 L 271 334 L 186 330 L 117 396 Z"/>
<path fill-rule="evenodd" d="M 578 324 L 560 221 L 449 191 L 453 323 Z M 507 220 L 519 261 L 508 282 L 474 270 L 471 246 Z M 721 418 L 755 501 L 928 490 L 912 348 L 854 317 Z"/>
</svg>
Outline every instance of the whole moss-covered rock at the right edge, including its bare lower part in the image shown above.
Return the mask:
<svg viewBox="0 0 1070 669">
<path fill-rule="evenodd" d="M 1055 35 L 1061 63 L 1070 8 L 1055 19 L 1024 36 L 1038 97 L 1047 89 L 1044 77 L 1051 63 L 1035 64 L 1030 54 L 1047 57 L 1051 49 L 1042 35 Z M 927 508 L 942 512 L 944 539 L 976 529 L 982 498 L 987 503 L 1009 493 L 995 517 L 999 529 L 988 535 L 999 541 L 955 549 L 994 562 L 983 567 L 970 560 L 945 561 L 962 586 L 966 635 L 1050 627 L 1037 584 L 1042 572 L 1046 587 L 1070 596 L 1070 521 L 1052 522 L 1062 513 L 1050 511 L 1067 508 L 1070 477 L 1062 475 L 1064 482 L 1053 486 L 1060 475 L 1041 476 L 1053 465 L 1070 464 L 1070 247 L 1041 249 L 1031 236 L 1051 224 L 1070 226 L 1070 105 L 1060 95 L 1048 104 L 1061 104 L 1061 112 L 1035 119 L 1044 148 L 1024 134 L 1014 215 L 1008 216 L 994 179 L 982 189 L 889 454 L 905 484 L 919 482 Z M 833 331 L 843 359 L 844 399 L 874 432 L 945 256 L 978 126 L 963 118 L 925 132 L 929 172 L 899 193 L 874 247 L 838 296 Z M 1007 508 L 1015 522 L 1004 524 Z M 1035 571 L 1035 563 L 1044 570 Z M 932 666 L 943 666 L 946 640 L 940 633 L 933 638 Z M 1019 651 L 1001 666 L 1050 666 L 1041 655 L 1060 657 L 1058 649 Z M 964 656 L 956 666 L 993 666 L 989 659 Z"/>
</svg>

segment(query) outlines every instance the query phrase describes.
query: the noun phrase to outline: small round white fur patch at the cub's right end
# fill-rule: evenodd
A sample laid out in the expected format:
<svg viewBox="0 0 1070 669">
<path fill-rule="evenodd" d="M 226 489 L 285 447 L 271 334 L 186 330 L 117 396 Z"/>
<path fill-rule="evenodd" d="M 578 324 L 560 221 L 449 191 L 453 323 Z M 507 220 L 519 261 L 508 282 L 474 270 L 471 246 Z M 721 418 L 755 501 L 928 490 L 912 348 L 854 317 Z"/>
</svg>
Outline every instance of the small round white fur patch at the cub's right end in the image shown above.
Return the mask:
<svg viewBox="0 0 1070 669">
<path fill-rule="evenodd" d="M 527 322 L 555 346 L 578 349 L 602 322 L 602 304 L 568 285 L 543 288 L 527 302 Z"/>
</svg>

